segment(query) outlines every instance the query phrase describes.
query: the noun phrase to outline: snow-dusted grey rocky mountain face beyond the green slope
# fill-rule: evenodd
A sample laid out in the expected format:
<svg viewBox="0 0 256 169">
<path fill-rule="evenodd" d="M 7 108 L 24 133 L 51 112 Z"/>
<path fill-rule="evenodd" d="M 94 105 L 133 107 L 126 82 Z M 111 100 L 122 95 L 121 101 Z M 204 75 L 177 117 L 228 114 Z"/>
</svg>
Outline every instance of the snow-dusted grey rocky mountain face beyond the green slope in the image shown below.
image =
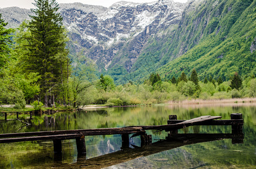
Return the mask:
<svg viewBox="0 0 256 169">
<path fill-rule="evenodd" d="M 85 51 L 101 72 L 116 65 L 129 72 L 148 39 L 177 25 L 184 8 L 184 4 L 172 0 L 122 1 L 109 8 L 81 3 L 60 4 L 60 13 L 72 41 L 72 53 Z M 18 27 L 31 15 L 29 10 L 20 8 L 3 8 L 1 13 L 11 27 Z M 20 13 L 22 17 L 18 17 Z"/>
</svg>

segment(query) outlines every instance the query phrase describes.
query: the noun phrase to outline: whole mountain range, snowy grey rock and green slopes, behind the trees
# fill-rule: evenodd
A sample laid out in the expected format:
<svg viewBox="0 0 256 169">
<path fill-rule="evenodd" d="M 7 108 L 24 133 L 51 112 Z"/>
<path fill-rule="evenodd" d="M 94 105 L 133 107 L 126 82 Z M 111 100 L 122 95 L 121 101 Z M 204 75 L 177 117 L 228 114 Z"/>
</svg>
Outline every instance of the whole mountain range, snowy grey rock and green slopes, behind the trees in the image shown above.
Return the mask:
<svg viewBox="0 0 256 169">
<path fill-rule="evenodd" d="M 71 58 L 94 60 L 98 71 L 117 84 L 190 74 L 228 79 L 256 74 L 256 0 L 195 0 L 176 3 L 118 2 L 109 8 L 60 4 Z M 12 28 L 29 19 L 29 10 L 3 8 Z"/>
</svg>

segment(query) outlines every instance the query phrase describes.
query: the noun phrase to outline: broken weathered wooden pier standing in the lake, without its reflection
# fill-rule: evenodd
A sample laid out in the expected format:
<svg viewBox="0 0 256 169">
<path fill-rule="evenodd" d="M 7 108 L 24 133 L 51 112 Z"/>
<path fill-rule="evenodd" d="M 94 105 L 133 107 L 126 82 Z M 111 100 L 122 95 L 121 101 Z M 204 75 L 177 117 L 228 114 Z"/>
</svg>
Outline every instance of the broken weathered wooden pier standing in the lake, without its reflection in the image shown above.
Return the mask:
<svg viewBox="0 0 256 169">
<path fill-rule="evenodd" d="M 20 141 L 36 141 L 36 140 L 53 140 L 54 153 L 62 153 L 62 140 L 76 139 L 77 153 L 85 154 L 85 136 L 94 135 L 122 135 L 122 148 L 129 148 L 129 135 L 131 137 L 140 136 L 141 144 L 151 144 L 151 135 L 146 134 L 146 130 L 165 130 L 170 131 L 168 134 L 168 140 L 183 140 L 189 139 L 203 139 L 209 138 L 216 139 L 232 139 L 232 143 L 242 143 L 244 135 L 242 134 L 242 126 L 244 121 L 242 120 L 242 114 L 231 114 L 229 120 L 216 120 L 222 118 L 221 116 L 205 115 L 186 121 L 177 120 L 176 115 L 170 115 L 166 125 L 158 126 L 129 126 L 122 128 L 95 128 L 84 130 L 62 130 L 62 131 L 41 131 L 41 132 L 24 132 L 24 133 L 12 133 L 12 134 L 0 134 L 0 143 L 15 143 Z M 177 130 L 189 126 L 196 125 L 230 125 L 232 126 L 232 134 L 178 134 Z M 237 137 L 238 136 L 238 137 Z"/>
</svg>

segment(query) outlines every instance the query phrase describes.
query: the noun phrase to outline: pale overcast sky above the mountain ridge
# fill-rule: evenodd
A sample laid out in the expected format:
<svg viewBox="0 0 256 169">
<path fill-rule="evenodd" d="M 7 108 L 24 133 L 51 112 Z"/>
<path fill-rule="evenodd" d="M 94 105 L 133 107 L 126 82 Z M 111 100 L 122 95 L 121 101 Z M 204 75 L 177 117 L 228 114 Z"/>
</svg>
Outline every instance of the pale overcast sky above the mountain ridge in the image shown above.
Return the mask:
<svg viewBox="0 0 256 169">
<path fill-rule="evenodd" d="M 58 3 L 73 3 L 73 2 L 81 2 L 88 5 L 101 5 L 105 7 L 111 6 L 115 2 L 119 2 L 120 0 L 57 0 Z M 128 2 L 154 2 L 157 0 L 126 0 Z M 186 2 L 187 0 L 174 0 L 175 2 Z M 18 6 L 20 8 L 34 8 L 32 5 L 33 0 L 0 0 L 0 8 Z"/>
</svg>

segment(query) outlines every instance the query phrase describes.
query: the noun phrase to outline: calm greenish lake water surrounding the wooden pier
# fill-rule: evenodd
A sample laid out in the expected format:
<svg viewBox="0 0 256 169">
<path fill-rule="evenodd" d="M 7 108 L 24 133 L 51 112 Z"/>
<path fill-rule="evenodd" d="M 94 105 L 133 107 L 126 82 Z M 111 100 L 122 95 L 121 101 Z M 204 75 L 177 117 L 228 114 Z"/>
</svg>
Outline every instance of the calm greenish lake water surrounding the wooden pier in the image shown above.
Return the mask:
<svg viewBox="0 0 256 169">
<path fill-rule="evenodd" d="M 28 141 L 0 144 L 0 168 L 256 168 L 256 105 L 154 105 L 123 108 L 101 108 L 81 112 L 59 112 L 33 117 L 32 125 L 19 121 L 0 121 L 1 134 L 49 130 L 124 127 L 167 124 L 168 115 L 191 119 L 201 115 L 242 113 L 243 144 L 231 139 L 190 144 L 165 141 L 168 132 L 147 131 L 153 144 L 141 146 L 140 136 L 129 140 L 121 149 L 120 135 L 85 136 L 86 155 L 77 155 L 76 141 L 62 142 L 62 155 L 53 153 L 53 141 Z M 15 115 L 8 116 L 15 119 Z M 21 115 L 28 121 L 29 115 Z M 0 117 L 4 119 L 4 117 Z M 179 130 L 189 134 L 226 134 L 231 126 L 191 126 Z M 130 135 L 131 136 L 131 135 Z"/>
</svg>

